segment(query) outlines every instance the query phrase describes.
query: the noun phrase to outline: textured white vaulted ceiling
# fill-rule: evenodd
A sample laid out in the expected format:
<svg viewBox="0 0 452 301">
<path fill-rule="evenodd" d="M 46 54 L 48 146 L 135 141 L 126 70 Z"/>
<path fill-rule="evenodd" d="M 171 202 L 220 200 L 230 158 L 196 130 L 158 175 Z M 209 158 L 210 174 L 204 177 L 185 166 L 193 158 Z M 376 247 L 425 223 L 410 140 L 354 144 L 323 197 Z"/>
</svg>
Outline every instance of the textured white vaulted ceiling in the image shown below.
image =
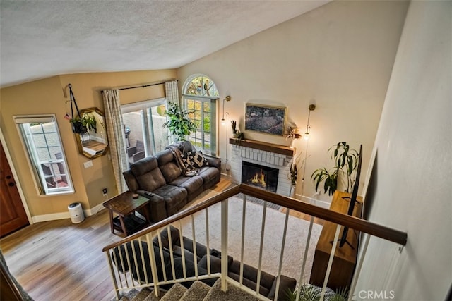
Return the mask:
<svg viewBox="0 0 452 301">
<path fill-rule="evenodd" d="M 179 68 L 328 1 L 0 0 L 0 87 Z"/>
</svg>

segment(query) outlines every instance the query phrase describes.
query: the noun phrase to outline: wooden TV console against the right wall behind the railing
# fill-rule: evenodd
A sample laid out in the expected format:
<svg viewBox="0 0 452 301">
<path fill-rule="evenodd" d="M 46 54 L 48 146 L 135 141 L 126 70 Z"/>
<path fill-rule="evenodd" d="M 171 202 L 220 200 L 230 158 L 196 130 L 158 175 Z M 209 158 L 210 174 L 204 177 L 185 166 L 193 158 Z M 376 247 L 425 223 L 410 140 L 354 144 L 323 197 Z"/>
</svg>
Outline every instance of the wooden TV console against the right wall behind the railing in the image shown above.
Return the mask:
<svg viewBox="0 0 452 301">
<path fill-rule="evenodd" d="M 361 217 L 362 212 L 362 197 L 357 198 L 359 203 L 355 205 L 353 216 Z M 348 205 L 350 204 L 350 193 L 340 192 L 336 190 L 331 201 L 330 209 L 347 214 Z M 323 225 L 322 232 L 317 242 L 316 252 L 314 253 L 314 262 L 312 264 L 311 279 L 309 283 L 323 286 L 323 281 L 328 267 L 328 260 L 331 254 L 331 241 L 334 239 L 336 232 L 336 223 L 326 221 Z M 340 236 L 343 231 L 340 231 Z M 336 246 L 333 265 L 331 266 L 330 277 L 328 278 L 328 288 L 333 290 L 338 288 L 350 288 L 352 276 L 355 271 L 357 249 L 359 241 L 359 233 L 353 229 L 349 229 L 347 233 L 347 241 L 350 245 L 343 245 L 343 247 Z"/>
</svg>

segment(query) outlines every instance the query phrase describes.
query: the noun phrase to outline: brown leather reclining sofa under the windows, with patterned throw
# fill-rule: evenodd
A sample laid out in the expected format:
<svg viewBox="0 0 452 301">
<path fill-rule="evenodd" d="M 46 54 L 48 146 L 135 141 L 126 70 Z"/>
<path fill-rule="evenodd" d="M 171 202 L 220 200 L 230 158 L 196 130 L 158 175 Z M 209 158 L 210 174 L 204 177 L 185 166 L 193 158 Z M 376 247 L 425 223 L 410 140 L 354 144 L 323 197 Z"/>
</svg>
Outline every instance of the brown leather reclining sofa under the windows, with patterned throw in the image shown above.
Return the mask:
<svg viewBox="0 0 452 301">
<path fill-rule="evenodd" d="M 150 199 L 151 222 L 176 214 L 201 192 L 220 182 L 220 159 L 197 153 L 201 156 L 200 165 L 186 167 L 177 156 L 184 158 L 187 154 L 195 155 L 196 149 L 189 142 L 180 142 L 136 161 L 124 171 L 129 190 Z M 186 176 L 189 168 L 190 176 Z"/>
</svg>

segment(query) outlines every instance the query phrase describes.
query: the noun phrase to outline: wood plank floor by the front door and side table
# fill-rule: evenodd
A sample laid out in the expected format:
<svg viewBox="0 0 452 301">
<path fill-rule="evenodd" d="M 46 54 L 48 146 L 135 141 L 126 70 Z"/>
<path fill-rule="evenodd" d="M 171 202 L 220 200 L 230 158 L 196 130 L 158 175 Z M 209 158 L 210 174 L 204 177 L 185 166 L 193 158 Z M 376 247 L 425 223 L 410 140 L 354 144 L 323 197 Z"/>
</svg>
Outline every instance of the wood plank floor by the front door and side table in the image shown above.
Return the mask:
<svg viewBox="0 0 452 301">
<path fill-rule="evenodd" d="M 213 190 L 232 187 L 222 179 Z M 306 219 L 306 216 L 297 216 Z M 112 279 L 102 247 L 121 240 L 106 209 L 78 224 L 35 223 L 0 240 L 11 274 L 34 300 L 112 300 Z"/>
</svg>

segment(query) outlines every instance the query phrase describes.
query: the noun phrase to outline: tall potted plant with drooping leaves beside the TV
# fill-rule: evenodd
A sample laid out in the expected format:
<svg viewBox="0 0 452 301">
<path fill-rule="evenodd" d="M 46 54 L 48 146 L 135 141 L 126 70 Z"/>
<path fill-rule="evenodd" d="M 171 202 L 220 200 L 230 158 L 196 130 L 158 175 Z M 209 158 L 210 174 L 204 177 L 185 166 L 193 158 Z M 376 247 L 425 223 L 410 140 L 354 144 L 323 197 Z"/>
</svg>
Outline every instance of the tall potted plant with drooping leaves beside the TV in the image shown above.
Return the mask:
<svg viewBox="0 0 452 301">
<path fill-rule="evenodd" d="M 347 178 L 347 186 L 345 192 L 350 192 L 352 189 L 352 173 L 357 167 L 358 152 L 355 149 L 350 149 L 347 142 L 338 142 L 328 149 L 328 152 L 333 151 L 331 159 L 335 162 L 335 166 L 328 170 L 325 167 L 318 168 L 312 173 L 311 180 L 313 181 L 316 191 L 319 190 L 319 185 L 323 183 L 324 193 L 333 195 L 338 189 L 338 178 L 343 175 Z"/>
</svg>

